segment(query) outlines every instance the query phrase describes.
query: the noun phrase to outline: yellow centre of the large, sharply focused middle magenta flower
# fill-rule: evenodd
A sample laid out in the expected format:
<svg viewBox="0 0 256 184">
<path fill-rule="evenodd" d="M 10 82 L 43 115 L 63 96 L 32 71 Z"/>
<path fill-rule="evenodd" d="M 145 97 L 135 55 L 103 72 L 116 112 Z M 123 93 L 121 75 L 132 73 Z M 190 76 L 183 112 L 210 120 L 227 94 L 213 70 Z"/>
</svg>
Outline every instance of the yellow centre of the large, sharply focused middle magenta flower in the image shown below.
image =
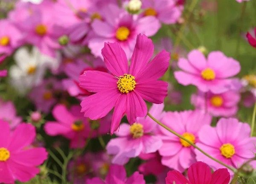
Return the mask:
<svg viewBox="0 0 256 184">
<path fill-rule="evenodd" d="M 133 91 L 135 88 L 135 85 L 137 84 L 135 82 L 135 77 L 130 74 L 124 74 L 123 76 L 120 76 L 117 83 L 117 88 L 121 93 L 129 93 L 129 91 Z"/>
</svg>

